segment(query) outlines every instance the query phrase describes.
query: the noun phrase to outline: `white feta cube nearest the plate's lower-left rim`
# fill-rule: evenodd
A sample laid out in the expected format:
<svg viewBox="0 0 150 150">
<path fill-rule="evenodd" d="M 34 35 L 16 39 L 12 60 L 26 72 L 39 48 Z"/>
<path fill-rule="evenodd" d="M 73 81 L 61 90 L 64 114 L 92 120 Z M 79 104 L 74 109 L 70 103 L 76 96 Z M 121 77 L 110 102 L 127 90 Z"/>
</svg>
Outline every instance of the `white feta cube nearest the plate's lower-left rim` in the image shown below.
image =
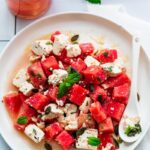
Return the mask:
<svg viewBox="0 0 150 150">
<path fill-rule="evenodd" d="M 35 143 L 39 143 L 44 139 L 44 132 L 34 124 L 28 125 L 24 133 Z"/>
</svg>

